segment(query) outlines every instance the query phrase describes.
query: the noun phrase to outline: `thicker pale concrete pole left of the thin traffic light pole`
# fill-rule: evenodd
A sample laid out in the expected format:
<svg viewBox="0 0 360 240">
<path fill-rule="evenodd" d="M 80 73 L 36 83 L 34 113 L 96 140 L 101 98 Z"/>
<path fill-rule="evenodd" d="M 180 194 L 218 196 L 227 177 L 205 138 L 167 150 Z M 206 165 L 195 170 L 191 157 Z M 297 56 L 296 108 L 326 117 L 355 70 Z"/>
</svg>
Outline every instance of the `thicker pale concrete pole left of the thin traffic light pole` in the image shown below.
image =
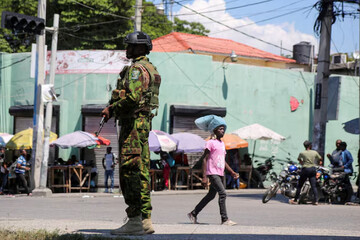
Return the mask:
<svg viewBox="0 0 360 240">
<path fill-rule="evenodd" d="M 46 0 L 39 0 L 37 15 L 39 18 L 46 20 Z M 37 77 L 35 82 L 31 189 L 38 189 L 40 186 L 40 171 L 43 155 L 44 103 L 41 97 L 41 87 L 45 80 L 45 32 L 44 30 L 42 34 L 36 37 Z M 34 194 L 37 194 L 37 191 L 35 191 Z"/>
</svg>

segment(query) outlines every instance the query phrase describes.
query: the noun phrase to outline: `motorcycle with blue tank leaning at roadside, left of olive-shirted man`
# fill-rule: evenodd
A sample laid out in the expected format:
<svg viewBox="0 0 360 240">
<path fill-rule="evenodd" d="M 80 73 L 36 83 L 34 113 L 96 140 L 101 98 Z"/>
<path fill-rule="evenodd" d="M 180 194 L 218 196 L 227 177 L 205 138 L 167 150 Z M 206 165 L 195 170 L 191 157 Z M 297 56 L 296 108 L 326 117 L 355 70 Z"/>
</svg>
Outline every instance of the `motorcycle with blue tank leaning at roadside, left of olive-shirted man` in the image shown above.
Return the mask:
<svg viewBox="0 0 360 240">
<path fill-rule="evenodd" d="M 294 198 L 296 194 L 296 186 L 298 179 L 300 178 L 300 169 L 293 162 L 289 162 L 274 181 L 270 187 L 266 190 L 262 197 L 262 202 L 267 203 L 272 199 L 277 191 L 280 189 L 281 194 L 287 198 Z"/>
</svg>

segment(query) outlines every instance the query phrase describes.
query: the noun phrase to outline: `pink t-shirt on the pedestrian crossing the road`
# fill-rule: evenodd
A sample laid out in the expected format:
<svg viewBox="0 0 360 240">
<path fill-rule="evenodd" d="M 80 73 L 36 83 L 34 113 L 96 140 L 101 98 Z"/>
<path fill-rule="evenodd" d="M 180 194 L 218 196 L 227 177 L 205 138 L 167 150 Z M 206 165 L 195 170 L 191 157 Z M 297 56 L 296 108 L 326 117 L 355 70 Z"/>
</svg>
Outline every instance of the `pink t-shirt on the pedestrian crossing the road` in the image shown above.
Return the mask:
<svg viewBox="0 0 360 240">
<path fill-rule="evenodd" d="M 206 175 L 224 176 L 225 170 L 225 144 L 217 139 L 210 139 L 206 142 L 206 146 L 210 151 L 207 159 Z"/>
</svg>

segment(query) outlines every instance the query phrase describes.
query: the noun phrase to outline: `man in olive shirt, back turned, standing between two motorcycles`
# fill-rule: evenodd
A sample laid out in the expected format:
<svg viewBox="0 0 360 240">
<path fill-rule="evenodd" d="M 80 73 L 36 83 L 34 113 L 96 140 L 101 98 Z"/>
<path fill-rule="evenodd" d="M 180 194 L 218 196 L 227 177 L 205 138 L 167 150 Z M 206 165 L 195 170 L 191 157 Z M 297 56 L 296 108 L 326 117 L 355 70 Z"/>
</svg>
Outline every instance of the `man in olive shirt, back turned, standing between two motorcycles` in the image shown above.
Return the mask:
<svg viewBox="0 0 360 240">
<path fill-rule="evenodd" d="M 310 141 L 304 142 L 305 151 L 301 152 L 298 157 L 298 161 L 302 166 L 300 179 L 297 184 L 296 194 L 294 199 L 290 199 L 290 204 L 297 204 L 297 200 L 300 196 L 301 188 L 303 187 L 306 179 L 309 179 L 311 189 L 314 193 L 313 205 L 318 205 L 319 197 L 316 188 L 316 165 L 322 164 L 322 158 L 320 154 L 312 150 L 312 143 Z"/>
</svg>

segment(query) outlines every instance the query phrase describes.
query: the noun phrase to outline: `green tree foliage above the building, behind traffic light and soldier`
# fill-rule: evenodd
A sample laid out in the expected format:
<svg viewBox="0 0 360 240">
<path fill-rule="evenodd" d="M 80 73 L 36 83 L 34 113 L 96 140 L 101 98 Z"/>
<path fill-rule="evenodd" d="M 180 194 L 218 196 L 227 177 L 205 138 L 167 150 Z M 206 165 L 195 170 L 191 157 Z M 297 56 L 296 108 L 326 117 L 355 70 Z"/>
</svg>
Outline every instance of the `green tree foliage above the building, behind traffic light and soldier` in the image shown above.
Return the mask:
<svg viewBox="0 0 360 240">
<path fill-rule="evenodd" d="M 38 1 L 2 0 L 0 11 L 11 11 L 37 16 Z M 133 32 L 135 0 L 48 0 L 46 26 L 53 25 L 55 13 L 60 15 L 59 50 L 124 49 L 124 37 Z M 206 35 L 209 30 L 197 22 L 175 18 L 173 25 L 166 16 L 156 12 L 153 3 L 143 1 L 142 31 L 152 39 L 169 34 L 172 30 Z M 0 52 L 29 52 L 30 46 L 11 49 L 6 35 L 16 39 L 10 30 L 0 28 Z M 32 39 L 35 42 L 35 38 Z M 51 34 L 46 34 L 51 46 Z"/>
</svg>

